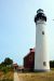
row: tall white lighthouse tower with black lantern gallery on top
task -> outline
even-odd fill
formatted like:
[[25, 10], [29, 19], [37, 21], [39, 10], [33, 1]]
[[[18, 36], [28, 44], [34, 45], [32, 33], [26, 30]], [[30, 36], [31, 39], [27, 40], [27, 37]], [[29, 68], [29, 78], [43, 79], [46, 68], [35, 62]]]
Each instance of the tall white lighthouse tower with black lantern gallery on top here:
[[35, 71], [50, 71], [46, 16], [43, 10], [39, 9], [37, 11], [37, 15], [35, 16], [35, 23], [36, 23]]

